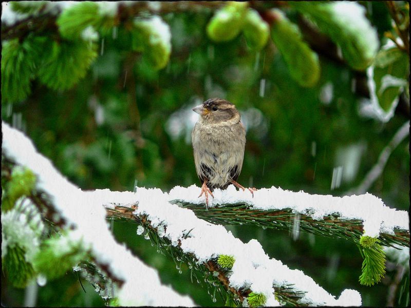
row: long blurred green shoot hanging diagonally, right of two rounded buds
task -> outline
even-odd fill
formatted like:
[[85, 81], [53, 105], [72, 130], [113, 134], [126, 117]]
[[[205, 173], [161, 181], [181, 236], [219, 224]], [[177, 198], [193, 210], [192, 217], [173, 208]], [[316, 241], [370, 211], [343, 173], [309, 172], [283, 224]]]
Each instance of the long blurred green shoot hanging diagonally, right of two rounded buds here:
[[284, 13], [274, 9], [271, 37], [284, 57], [291, 77], [303, 87], [314, 86], [320, 78], [318, 55], [303, 41], [300, 29]]

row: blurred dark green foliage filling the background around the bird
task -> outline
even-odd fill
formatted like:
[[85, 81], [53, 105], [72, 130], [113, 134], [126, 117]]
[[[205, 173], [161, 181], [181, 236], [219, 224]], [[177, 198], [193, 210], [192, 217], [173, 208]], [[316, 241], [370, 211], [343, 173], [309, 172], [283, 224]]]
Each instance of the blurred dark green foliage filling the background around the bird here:
[[[391, 29], [387, 7], [382, 2], [364, 6], [383, 45], [387, 41], [383, 33]], [[14, 40], [4, 43], [3, 51], [13, 48], [13, 53], [2, 60], [2, 92], [4, 87], [24, 85], [21, 95], [9, 96], [17, 102], [2, 99], [3, 121], [25, 128], [36, 148], [82, 189], [133, 190], [137, 184], [166, 191], [175, 185], [199, 184], [190, 140], [196, 121], [191, 108], [221, 97], [237, 106], [247, 127], [245, 160], [238, 180], [242, 185], [274, 185], [334, 196], [358, 186], [408, 119], [405, 96], [389, 122], [364, 117], [359, 112], [364, 93], [359, 89], [366, 76], [351, 68], [356, 65], [330, 59], [318, 51], [320, 77], [312, 87], [302, 87], [290, 73], [291, 60], [284, 57], [286, 48], [278, 50], [280, 46], [277, 49], [269, 41], [262, 50], [251, 50], [242, 35], [232, 35], [227, 42], [210, 40], [207, 29], [213, 27], [209, 25], [213, 14], [212, 10], [161, 14], [170, 26], [172, 46], [170, 60], [161, 70], [156, 69], [156, 63], [157, 68], [164, 66], [162, 59], [153, 54], [154, 62], [147, 58], [150, 48], [133, 49], [138, 44], [129, 30], [133, 25], [127, 22], [110, 30], [104, 24], [98, 41], [87, 44], [79, 40], [70, 45], [63, 40], [52, 45], [48, 39], [47, 46], [51, 47], [45, 50], [44, 61], [36, 64], [38, 68], [30, 68], [38, 79], [27, 71], [12, 71], [9, 64], [16, 63], [17, 69], [31, 67], [36, 62], [30, 60], [34, 51]], [[292, 14], [290, 20], [294, 22]], [[61, 16], [61, 26], [66, 25], [63, 17], [67, 15]], [[78, 35], [70, 29], [65, 31], [70, 38]], [[43, 35], [29, 35], [28, 39], [47, 37]], [[339, 42], [337, 38], [335, 41]], [[86, 66], [81, 65], [84, 59], [78, 63], [79, 59], [70, 56], [74, 48], [81, 49], [89, 59]], [[162, 56], [166, 56], [166, 49], [163, 51]], [[402, 56], [409, 59], [405, 53]], [[60, 57], [67, 60], [63, 68], [51, 63]], [[6, 69], [3, 61], [8, 61]], [[63, 90], [72, 86], [65, 83], [67, 75], [75, 85]], [[30, 82], [31, 90], [27, 86]], [[403, 106], [408, 106], [405, 112]], [[341, 163], [339, 153], [347, 157], [349, 147], [357, 144], [361, 145], [357, 161]], [[409, 208], [408, 147], [408, 140], [403, 141], [391, 153], [383, 174], [369, 189], [390, 207], [405, 210]], [[331, 190], [333, 169], [340, 165], [343, 170], [354, 171]], [[361, 286], [362, 257], [351, 242], [307, 234], [300, 234], [294, 241], [283, 231], [227, 228], [242, 241], [256, 238], [270, 257], [301, 269], [333, 295], [353, 288], [361, 293], [363, 305], [386, 304], [388, 285], [395, 273], [387, 272], [386, 278], [373, 287]], [[156, 267], [164, 284], [171, 283], [178, 292], [190, 294], [199, 305], [223, 305], [220, 299], [212, 302], [200, 284], [190, 282], [185, 265], [178, 274], [170, 258], [158, 254], [135, 232], [135, 224], [114, 224], [117, 239]], [[399, 290], [407, 283], [403, 280]], [[14, 289], [4, 276], [2, 285], [3, 304], [23, 304], [22, 290]], [[83, 285], [87, 293], [78, 278], [67, 272], [39, 288], [38, 305], [102, 305], [103, 300], [90, 285]]]

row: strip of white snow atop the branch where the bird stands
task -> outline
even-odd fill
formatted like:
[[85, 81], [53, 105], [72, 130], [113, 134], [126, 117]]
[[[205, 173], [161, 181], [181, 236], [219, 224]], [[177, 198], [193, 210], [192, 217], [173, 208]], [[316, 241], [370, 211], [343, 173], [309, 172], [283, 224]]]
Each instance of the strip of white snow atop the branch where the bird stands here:
[[[176, 186], [170, 191], [170, 200], [182, 200], [193, 204], [204, 204], [204, 197], [198, 198], [200, 188]], [[225, 203], [247, 203], [253, 208], [270, 210], [291, 208], [294, 213], [309, 215], [314, 219], [339, 214], [339, 219], [363, 220], [364, 235], [378, 237], [381, 233], [394, 234], [394, 228], [408, 230], [408, 213], [405, 210], [389, 208], [371, 194], [334, 197], [331, 195], [310, 195], [302, 190], [294, 192], [282, 188], [260, 188], [254, 197], [246, 191], [236, 190], [230, 185], [226, 190], [215, 189], [209, 206]], [[184, 198], [181, 198], [184, 196]], [[308, 213], [308, 214], [307, 214]]]

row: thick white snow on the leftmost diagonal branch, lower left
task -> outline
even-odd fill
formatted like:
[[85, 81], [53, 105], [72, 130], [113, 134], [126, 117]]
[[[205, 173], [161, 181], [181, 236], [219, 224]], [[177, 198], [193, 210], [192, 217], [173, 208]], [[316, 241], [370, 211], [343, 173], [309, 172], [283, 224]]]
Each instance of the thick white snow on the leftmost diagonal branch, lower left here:
[[108, 229], [106, 210], [102, 204], [121, 202], [133, 206], [137, 202], [133, 192], [111, 192], [108, 189], [82, 191], [40, 155], [22, 132], [4, 122], [2, 131], [2, 155], [27, 166], [38, 177], [36, 189], [49, 196], [52, 206], [66, 222], [63, 227], [74, 228], [70, 234], [90, 245], [91, 254], [98, 265], [121, 285], [117, 294], [121, 305], [195, 305], [188, 296], [181, 296], [171, 287], [162, 285], [157, 271], [116, 242]]

